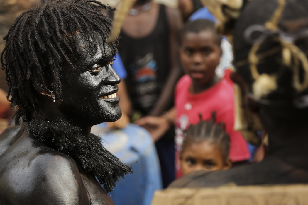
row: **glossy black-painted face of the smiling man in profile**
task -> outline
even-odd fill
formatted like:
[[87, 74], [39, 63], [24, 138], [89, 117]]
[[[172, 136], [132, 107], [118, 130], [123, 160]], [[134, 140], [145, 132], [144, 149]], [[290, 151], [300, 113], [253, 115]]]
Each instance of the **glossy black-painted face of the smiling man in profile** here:
[[76, 39], [80, 55], [71, 65], [63, 67], [61, 111], [73, 120], [83, 120], [88, 125], [118, 120], [122, 114], [116, 96], [120, 77], [112, 68], [115, 55], [111, 46], [104, 43], [99, 33], [93, 41], [97, 51], [92, 56], [89, 41], [81, 34]]

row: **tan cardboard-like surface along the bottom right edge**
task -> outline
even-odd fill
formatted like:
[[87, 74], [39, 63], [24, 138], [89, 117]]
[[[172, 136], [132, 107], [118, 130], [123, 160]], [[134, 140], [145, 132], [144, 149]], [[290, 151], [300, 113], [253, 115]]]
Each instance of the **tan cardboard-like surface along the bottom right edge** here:
[[306, 205], [308, 185], [242, 186], [156, 191], [152, 205]]

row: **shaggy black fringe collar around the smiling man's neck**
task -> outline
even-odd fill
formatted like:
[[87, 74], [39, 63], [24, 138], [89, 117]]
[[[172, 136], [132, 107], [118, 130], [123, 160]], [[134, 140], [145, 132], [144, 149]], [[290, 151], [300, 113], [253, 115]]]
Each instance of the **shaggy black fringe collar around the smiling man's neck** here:
[[106, 192], [111, 192], [115, 183], [132, 173], [132, 169], [107, 151], [100, 142], [100, 137], [91, 134], [86, 138], [77, 126], [67, 120], [51, 122], [33, 119], [29, 122], [28, 132], [47, 146], [71, 156], [76, 163], [103, 185]]

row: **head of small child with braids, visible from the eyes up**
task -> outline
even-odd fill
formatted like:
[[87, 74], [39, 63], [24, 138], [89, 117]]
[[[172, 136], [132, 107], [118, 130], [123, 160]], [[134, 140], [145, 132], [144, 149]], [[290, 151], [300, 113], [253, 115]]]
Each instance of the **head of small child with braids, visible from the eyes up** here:
[[202, 120], [190, 125], [184, 131], [184, 142], [180, 152], [182, 174], [193, 171], [216, 171], [229, 169], [232, 161], [229, 158], [229, 135], [224, 123], [216, 123], [216, 112], [210, 120]]

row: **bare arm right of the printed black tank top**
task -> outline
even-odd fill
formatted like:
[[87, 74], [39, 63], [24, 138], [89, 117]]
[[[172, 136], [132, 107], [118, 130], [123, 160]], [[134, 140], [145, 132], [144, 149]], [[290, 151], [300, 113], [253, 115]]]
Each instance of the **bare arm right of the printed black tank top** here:
[[149, 115], [160, 116], [163, 111], [167, 110], [168, 107], [172, 104], [173, 100], [173, 91], [176, 85], [176, 82], [182, 75], [182, 70], [179, 65], [179, 55], [178, 55], [178, 32], [182, 26], [181, 16], [178, 10], [171, 9], [167, 7], [167, 16], [168, 22], [170, 25], [170, 34], [169, 34], [169, 57], [171, 69], [167, 80], [165, 82], [162, 93], [158, 98], [157, 103], [154, 108], [149, 112]]

